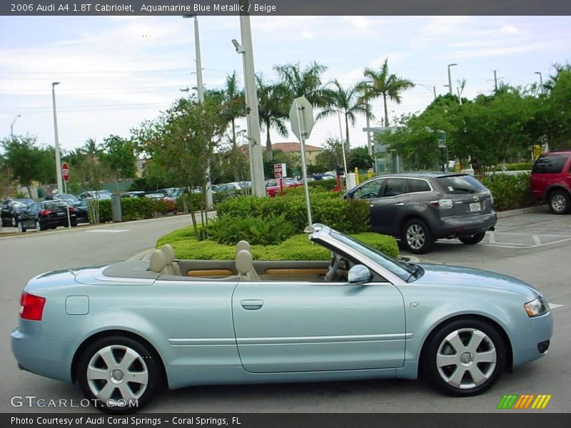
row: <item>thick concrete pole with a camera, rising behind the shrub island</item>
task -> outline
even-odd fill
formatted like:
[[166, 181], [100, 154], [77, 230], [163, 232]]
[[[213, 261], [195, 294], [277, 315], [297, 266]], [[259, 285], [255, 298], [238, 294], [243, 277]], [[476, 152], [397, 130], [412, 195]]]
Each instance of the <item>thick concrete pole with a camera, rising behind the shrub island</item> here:
[[[248, 0], [241, 0], [241, 6], [248, 10]], [[252, 30], [250, 16], [240, 15], [240, 34], [242, 44], [236, 40], [232, 43], [244, 60], [244, 86], [246, 89], [246, 119], [248, 122], [248, 141], [250, 142], [250, 158], [252, 165], [252, 190], [257, 196], [266, 196], [266, 185], [263, 176], [262, 148], [260, 146], [260, 116], [258, 112], [258, 93], [256, 91], [256, 72], [252, 46]]]

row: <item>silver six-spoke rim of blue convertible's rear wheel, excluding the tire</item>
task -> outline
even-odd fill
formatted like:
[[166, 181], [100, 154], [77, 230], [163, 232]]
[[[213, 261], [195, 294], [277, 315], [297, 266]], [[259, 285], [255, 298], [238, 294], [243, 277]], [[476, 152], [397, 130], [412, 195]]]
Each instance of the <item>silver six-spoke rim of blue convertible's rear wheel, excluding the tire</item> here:
[[138, 399], [149, 382], [143, 357], [123, 345], [98, 350], [89, 360], [86, 375], [91, 393], [103, 402]]

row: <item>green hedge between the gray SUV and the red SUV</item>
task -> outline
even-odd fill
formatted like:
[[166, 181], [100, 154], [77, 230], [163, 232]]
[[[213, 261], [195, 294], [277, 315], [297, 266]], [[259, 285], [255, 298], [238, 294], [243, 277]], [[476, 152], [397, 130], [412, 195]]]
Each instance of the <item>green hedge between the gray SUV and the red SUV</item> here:
[[492, 192], [498, 211], [530, 207], [534, 203], [527, 173], [487, 175], [482, 183]]

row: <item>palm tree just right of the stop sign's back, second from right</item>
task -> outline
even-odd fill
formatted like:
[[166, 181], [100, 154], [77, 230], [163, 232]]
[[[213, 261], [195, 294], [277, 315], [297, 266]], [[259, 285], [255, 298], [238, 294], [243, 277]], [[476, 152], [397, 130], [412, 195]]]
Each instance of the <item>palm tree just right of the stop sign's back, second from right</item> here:
[[327, 95], [330, 98], [331, 105], [325, 107], [317, 116], [326, 118], [335, 114], [342, 114], [345, 117], [345, 142], [346, 150], [349, 150], [349, 123], [355, 126], [357, 115], [364, 114], [370, 119], [374, 118], [373, 114], [368, 111], [366, 103], [359, 98], [360, 88], [358, 86], [351, 86], [350, 88], [343, 88], [337, 79], [330, 82], [335, 86], [334, 90], [328, 90]]

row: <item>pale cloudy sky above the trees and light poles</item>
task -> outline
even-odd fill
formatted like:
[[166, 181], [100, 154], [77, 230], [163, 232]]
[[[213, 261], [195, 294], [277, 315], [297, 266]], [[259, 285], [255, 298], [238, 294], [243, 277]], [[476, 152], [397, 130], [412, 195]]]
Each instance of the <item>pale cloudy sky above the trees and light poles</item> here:
[[[243, 81], [238, 16], [199, 16], [203, 81], [223, 85], [236, 71]], [[276, 64], [317, 61], [328, 67], [323, 82], [344, 86], [363, 79], [366, 67], [380, 68], [385, 58], [392, 73], [416, 86], [389, 102], [390, 121], [423, 111], [448, 88], [465, 79], [463, 96], [490, 93], [493, 70], [503, 83], [525, 86], [552, 64], [571, 61], [570, 16], [253, 16], [256, 73], [275, 81]], [[35, 136], [54, 145], [51, 83], [56, 86], [59, 143], [62, 151], [84, 146], [88, 138], [115, 134], [152, 120], [183, 88], [196, 86], [193, 21], [178, 16], [1, 16], [0, 139]], [[383, 103], [371, 104], [380, 125]], [[21, 115], [21, 116], [18, 116]], [[239, 123], [246, 128], [246, 122]], [[344, 124], [343, 124], [344, 126]], [[351, 146], [365, 146], [365, 118], [350, 128]], [[343, 135], [345, 129], [342, 129]], [[307, 143], [323, 146], [338, 138], [337, 118], [318, 121]], [[295, 136], [272, 133], [273, 142]], [[262, 131], [262, 143], [265, 144]]]

